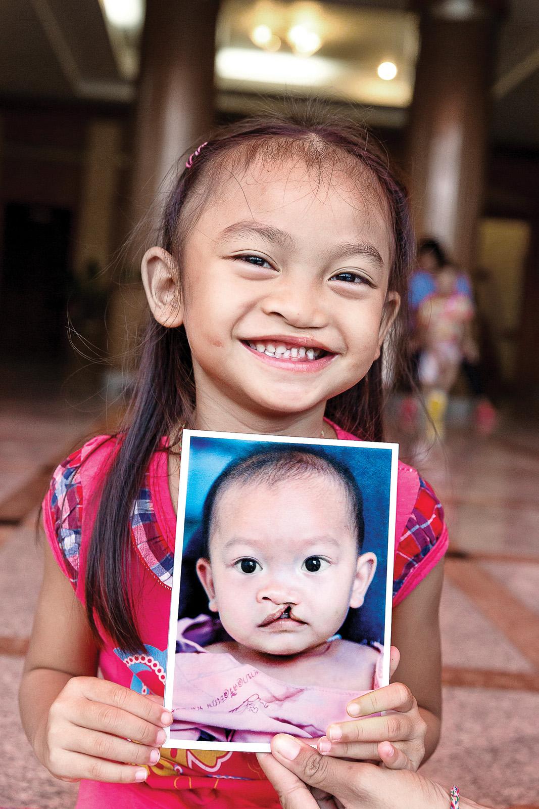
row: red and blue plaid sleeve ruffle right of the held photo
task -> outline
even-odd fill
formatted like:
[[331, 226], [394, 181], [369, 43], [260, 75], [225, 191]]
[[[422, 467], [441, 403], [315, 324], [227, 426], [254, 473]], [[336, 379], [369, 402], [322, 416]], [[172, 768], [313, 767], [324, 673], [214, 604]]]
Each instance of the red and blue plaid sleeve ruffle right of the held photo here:
[[[406, 528], [398, 542], [395, 554], [393, 595], [394, 599], [402, 587], [409, 585], [411, 578], [417, 582], [431, 570], [434, 557], [438, 561], [447, 544], [447, 528], [444, 523], [444, 509], [432, 487], [419, 477], [419, 492]], [[426, 565], [430, 555], [429, 564]], [[406, 590], [408, 587], [406, 587]]]

